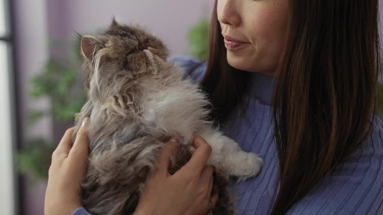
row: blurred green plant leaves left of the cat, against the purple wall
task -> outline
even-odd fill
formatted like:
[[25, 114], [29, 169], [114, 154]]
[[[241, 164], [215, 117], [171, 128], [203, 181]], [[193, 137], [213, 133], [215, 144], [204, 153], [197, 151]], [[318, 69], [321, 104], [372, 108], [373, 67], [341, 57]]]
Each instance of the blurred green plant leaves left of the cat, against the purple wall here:
[[[54, 41], [54, 42], [52, 42]], [[52, 48], [65, 50], [64, 42], [51, 40]], [[33, 126], [45, 115], [53, 116], [54, 121], [74, 121], [75, 113], [80, 112], [87, 100], [82, 87], [81, 55], [78, 41], [64, 57], [52, 57], [42, 66], [42, 71], [31, 78], [29, 96], [34, 99], [49, 98], [51, 108], [29, 110], [28, 126]], [[65, 53], [65, 52], [60, 52]], [[20, 173], [31, 173], [33, 179], [47, 179], [52, 152], [56, 145], [51, 140], [36, 138], [15, 155]]]

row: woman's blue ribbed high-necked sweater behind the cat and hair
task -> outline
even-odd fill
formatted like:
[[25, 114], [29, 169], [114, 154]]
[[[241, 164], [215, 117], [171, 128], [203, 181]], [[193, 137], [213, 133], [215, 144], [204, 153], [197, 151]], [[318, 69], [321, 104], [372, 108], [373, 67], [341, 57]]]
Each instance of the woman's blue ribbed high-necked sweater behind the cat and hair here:
[[[172, 57], [198, 83], [206, 63], [192, 57]], [[244, 151], [259, 153], [265, 165], [255, 178], [237, 185], [235, 202], [239, 214], [270, 214], [279, 191], [279, 165], [270, 99], [273, 77], [252, 73], [250, 90], [221, 126]], [[249, 102], [248, 102], [249, 101]], [[247, 105], [248, 102], [248, 105]], [[245, 112], [244, 112], [245, 110]], [[243, 114], [244, 112], [244, 114]], [[370, 137], [340, 164], [340, 172], [326, 176], [286, 213], [288, 215], [383, 214], [383, 124], [375, 117]], [[79, 208], [74, 215], [88, 215]]]

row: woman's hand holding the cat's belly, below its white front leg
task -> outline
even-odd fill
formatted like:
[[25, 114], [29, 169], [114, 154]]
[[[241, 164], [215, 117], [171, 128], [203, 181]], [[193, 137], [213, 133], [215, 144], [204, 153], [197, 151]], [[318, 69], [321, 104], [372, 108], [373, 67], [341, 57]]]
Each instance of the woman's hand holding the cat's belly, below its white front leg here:
[[211, 196], [214, 168], [205, 166], [211, 146], [196, 136], [196, 151], [189, 162], [171, 175], [168, 166], [177, 145], [171, 138], [160, 152], [157, 168], [146, 180], [134, 215], [200, 215], [215, 207], [218, 194]]

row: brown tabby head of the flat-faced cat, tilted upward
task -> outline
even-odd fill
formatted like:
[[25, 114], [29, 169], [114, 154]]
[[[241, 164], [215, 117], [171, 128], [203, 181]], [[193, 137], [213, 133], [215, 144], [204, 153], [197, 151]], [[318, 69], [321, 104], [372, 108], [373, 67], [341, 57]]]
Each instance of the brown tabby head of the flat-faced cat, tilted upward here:
[[138, 26], [118, 24], [115, 20], [99, 36], [81, 36], [81, 50], [85, 85], [108, 94], [158, 71], [155, 62], [167, 57], [166, 47], [159, 39]]

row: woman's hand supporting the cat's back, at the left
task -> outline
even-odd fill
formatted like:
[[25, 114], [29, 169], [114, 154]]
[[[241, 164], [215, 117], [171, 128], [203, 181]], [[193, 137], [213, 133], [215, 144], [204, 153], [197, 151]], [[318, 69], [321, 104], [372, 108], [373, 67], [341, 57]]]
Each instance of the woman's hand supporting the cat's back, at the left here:
[[86, 117], [72, 145], [74, 128], [68, 129], [52, 154], [45, 193], [45, 215], [70, 215], [81, 207], [80, 183], [85, 176], [88, 149]]

